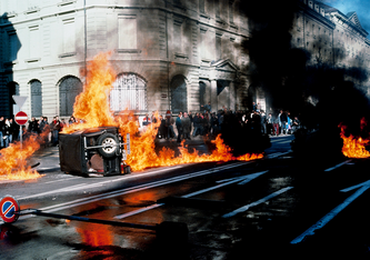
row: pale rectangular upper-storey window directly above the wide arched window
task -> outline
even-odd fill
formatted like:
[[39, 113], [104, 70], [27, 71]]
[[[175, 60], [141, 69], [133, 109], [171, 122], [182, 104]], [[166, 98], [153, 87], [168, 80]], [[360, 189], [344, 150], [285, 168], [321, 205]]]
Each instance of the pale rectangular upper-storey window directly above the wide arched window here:
[[138, 49], [137, 17], [118, 16], [118, 49]]

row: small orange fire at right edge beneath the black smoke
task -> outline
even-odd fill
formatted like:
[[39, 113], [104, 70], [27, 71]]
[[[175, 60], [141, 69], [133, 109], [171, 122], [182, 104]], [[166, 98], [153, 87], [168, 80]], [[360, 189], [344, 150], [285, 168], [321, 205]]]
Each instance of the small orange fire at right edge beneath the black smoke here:
[[[366, 124], [366, 120], [361, 120], [361, 130]], [[368, 158], [370, 152], [366, 150], [366, 146], [370, 140], [360, 138], [354, 138], [352, 134], [346, 137], [344, 132], [347, 127], [342, 123], [339, 124], [341, 132], [340, 137], [343, 139], [342, 153], [349, 158]]]

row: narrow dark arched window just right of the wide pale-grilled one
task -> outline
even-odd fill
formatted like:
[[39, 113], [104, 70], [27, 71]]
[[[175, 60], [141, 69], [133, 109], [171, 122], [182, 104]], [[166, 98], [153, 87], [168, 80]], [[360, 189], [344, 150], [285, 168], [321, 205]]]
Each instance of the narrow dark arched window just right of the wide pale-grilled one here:
[[188, 111], [188, 91], [184, 77], [174, 76], [171, 80], [171, 110], [172, 113]]

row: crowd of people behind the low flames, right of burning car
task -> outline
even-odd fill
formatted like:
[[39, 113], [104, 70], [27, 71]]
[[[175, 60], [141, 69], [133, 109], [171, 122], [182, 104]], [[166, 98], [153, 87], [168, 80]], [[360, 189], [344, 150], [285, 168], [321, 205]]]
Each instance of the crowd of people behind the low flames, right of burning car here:
[[[159, 116], [156, 118], [154, 112], [151, 117], [147, 113], [143, 118], [142, 126], [146, 128], [152, 122], [160, 120], [157, 138], [159, 139], [177, 139], [181, 142], [183, 139], [190, 140], [197, 136], [216, 137], [222, 132], [222, 128], [229, 128], [230, 126], [241, 127], [246, 132], [260, 132], [262, 134], [280, 136], [292, 134], [300, 128], [301, 123], [298, 117], [293, 119], [289, 111], [279, 110], [276, 114], [267, 114], [263, 110], [260, 110], [258, 106], [250, 112], [243, 112], [241, 110], [232, 111], [227, 108], [222, 108], [218, 112], [210, 112], [210, 104], [202, 106], [203, 112], [179, 112], [173, 119], [171, 111], [167, 111], [166, 116]], [[174, 127], [177, 130], [174, 131]]]

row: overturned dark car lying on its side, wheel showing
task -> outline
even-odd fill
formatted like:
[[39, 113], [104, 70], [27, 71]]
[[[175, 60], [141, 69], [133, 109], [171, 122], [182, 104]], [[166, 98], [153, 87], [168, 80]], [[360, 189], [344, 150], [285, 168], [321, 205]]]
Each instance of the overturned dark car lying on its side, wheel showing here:
[[59, 134], [60, 169], [66, 173], [129, 173], [130, 167], [124, 162], [127, 154], [130, 154], [130, 134], [127, 134], [124, 143], [116, 127], [82, 129]]

